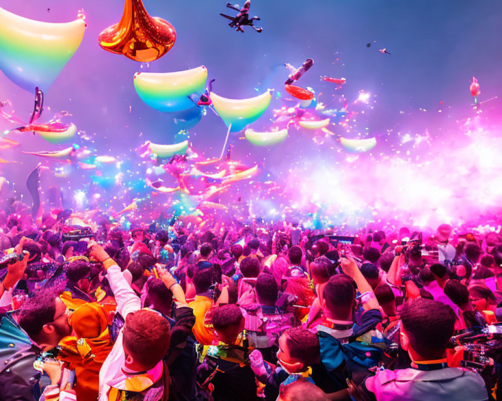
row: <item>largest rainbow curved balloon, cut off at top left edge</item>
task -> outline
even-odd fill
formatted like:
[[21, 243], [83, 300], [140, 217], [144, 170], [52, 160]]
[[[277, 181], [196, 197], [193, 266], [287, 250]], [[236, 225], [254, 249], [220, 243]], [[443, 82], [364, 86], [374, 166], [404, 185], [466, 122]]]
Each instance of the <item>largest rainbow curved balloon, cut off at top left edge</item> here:
[[85, 22], [54, 24], [0, 8], [0, 70], [19, 87], [46, 91], [76, 52]]

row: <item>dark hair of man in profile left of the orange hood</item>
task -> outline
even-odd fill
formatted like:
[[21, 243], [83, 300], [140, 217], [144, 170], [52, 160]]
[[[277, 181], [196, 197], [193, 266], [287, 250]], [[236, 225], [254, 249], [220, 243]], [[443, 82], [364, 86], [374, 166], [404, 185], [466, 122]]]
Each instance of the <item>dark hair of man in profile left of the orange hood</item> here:
[[31, 339], [37, 341], [44, 325], [54, 320], [57, 295], [54, 289], [42, 289], [21, 307], [19, 325]]

